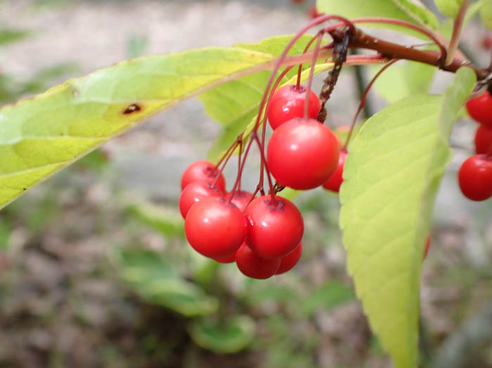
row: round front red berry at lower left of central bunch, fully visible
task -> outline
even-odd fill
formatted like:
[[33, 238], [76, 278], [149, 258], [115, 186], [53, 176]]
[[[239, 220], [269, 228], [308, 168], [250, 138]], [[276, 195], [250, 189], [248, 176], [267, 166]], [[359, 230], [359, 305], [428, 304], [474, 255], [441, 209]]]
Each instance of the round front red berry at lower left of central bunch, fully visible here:
[[247, 234], [245, 216], [224, 198], [204, 198], [191, 207], [185, 220], [186, 239], [203, 256], [233, 254]]

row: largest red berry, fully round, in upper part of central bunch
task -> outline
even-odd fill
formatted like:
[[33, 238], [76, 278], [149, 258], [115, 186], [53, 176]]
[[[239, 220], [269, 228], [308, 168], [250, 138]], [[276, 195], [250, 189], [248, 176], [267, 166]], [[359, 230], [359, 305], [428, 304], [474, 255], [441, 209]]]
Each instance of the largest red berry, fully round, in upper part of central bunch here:
[[266, 155], [280, 185], [312, 189], [337, 168], [339, 145], [328, 126], [313, 119], [293, 119], [273, 131]]

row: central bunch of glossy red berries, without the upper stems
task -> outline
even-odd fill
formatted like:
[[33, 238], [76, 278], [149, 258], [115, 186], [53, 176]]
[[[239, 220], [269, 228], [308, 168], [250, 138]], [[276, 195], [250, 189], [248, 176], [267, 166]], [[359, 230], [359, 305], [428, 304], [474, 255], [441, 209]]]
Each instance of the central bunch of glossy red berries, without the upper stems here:
[[[244, 275], [257, 279], [291, 270], [302, 255], [302, 215], [277, 192], [284, 187], [306, 190], [321, 185], [338, 192], [347, 156], [345, 150], [340, 150], [335, 134], [316, 120], [321, 103], [308, 88], [278, 88], [267, 106], [273, 133], [266, 157], [261, 155], [263, 167], [257, 190], [251, 193], [240, 189], [245, 159], [241, 161], [240, 136], [218, 165], [197, 161], [186, 168], [179, 199], [191, 247], [217, 262], [235, 262]], [[261, 143], [259, 147], [261, 150]], [[236, 148], [238, 178], [231, 192], [226, 192], [221, 171]], [[261, 183], [264, 170], [271, 187], [267, 195]], [[270, 175], [276, 185], [272, 185]]]

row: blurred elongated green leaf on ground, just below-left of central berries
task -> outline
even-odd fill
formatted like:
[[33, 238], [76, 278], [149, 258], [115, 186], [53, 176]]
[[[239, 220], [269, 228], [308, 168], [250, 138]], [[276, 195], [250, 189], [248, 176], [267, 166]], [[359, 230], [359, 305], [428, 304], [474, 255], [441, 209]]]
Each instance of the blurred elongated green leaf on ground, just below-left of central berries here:
[[147, 249], [115, 249], [112, 260], [119, 275], [148, 303], [162, 305], [186, 316], [209, 315], [216, 298], [179, 276], [174, 266]]

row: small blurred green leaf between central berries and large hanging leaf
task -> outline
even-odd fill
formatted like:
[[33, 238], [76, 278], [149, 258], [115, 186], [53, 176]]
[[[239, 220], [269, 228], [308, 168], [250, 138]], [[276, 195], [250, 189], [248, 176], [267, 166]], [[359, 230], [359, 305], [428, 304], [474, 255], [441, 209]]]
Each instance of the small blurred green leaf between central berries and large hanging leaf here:
[[355, 298], [354, 291], [351, 287], [342, 282], [330, 281], [302, 301], [301, 310], [303, 315], [312, 315], [318, 309], [332, 310], [344, 303], [353, 301]]

